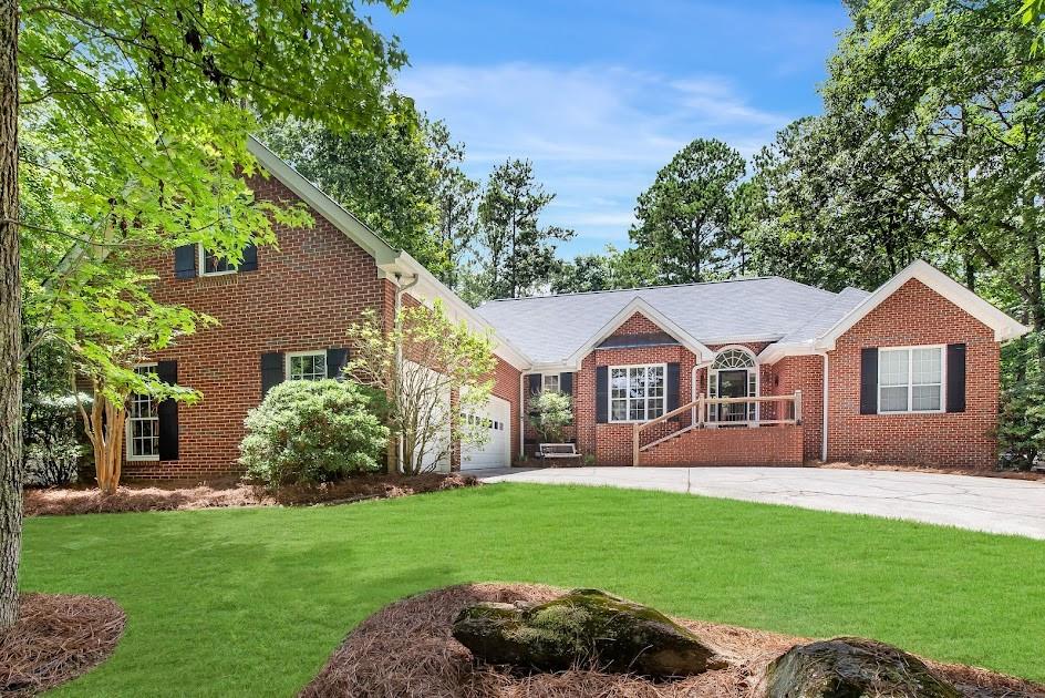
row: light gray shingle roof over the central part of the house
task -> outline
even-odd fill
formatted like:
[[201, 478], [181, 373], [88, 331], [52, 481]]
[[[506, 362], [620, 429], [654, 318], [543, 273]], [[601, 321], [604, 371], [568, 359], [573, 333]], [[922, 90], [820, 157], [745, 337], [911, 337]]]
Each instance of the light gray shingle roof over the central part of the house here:
[[813, 339], [867, 295], [855, 288], [832, 294], [770, 276], [495, 300], [477, 311], [532, 361], [555, 362], [569, 358], [637, 297], [711, 345]]

